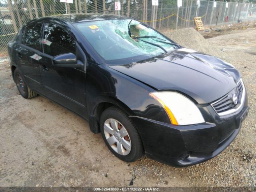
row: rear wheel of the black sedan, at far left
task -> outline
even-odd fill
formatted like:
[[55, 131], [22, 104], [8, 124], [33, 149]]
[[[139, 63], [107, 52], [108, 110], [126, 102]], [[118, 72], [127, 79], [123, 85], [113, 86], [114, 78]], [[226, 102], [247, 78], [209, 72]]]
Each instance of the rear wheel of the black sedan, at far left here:
[[14, 70], [14, 82], [21, 96], [25, 99], [31, 99], [37, 96], [37, 93], [32, 91], [28, 87], [28, 85], [24, 81], [24, 76], [20, 73], [20, 71], [17, 68]]

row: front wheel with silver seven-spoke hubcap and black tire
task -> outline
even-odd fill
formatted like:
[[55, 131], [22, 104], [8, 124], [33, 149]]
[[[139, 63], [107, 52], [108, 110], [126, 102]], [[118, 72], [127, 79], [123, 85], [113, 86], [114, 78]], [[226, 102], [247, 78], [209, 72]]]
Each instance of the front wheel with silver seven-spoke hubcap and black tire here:
[[100, 117], [100, 131], [110, 151], [121, 160], [134, 162], [143, 155], [140, 135], [122, 110], [107, 108]]

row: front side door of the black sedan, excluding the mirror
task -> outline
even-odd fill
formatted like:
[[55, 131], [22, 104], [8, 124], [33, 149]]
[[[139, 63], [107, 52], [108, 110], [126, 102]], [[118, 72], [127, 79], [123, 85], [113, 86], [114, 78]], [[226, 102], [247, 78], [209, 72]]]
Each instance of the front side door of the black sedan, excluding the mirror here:
[[77, 60], [86, 64], [86, 57], [75, 38], [63, 26], [45, 23], [42, 47], [39, 63], [46, 96], [87, 118], [85, 68], [56, 67], [52, 62], [54, 56], [73, 53]]

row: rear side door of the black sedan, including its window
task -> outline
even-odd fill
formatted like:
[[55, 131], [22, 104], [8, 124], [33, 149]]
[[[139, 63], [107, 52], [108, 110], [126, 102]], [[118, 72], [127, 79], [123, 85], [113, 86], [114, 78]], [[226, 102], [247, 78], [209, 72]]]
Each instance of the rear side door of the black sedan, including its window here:
[[39, 68], [41, 32], [42, 23], [40, 22], [22, 29], [21, 44], [18, 44], [16, 48], [16, 59], [19, 70], [24, 75], [30, 89], [44, 94]]

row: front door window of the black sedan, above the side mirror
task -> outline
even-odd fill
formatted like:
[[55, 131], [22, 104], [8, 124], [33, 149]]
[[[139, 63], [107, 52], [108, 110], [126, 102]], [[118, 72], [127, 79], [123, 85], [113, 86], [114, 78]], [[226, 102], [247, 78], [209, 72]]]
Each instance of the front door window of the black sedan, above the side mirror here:
[[56, 24], [46, 23], [43, 39], [44, 53], [56, 56], [64, 53], [76, 53], [74, 38]]

